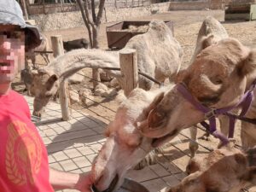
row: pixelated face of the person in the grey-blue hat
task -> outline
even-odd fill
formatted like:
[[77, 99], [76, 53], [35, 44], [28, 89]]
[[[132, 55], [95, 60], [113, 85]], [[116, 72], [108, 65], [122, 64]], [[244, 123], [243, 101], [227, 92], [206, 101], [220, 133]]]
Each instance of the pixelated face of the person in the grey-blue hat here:
[[25, 65], [25, 35], [19, 26], [0, 24], [0, 84], [9, 84]]

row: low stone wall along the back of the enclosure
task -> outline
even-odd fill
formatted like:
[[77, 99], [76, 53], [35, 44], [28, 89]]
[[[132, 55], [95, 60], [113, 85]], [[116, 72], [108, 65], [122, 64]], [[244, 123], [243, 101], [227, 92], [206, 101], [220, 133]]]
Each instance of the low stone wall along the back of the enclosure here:
[[[170, 10], [222, 9], [222, 2], [222, 0], [205, 0], [196, 2], [154, 3], [136, 8], [106, 8], [107, 18], [105, 14], [103, 14], [102, 23], [131, 20], [132, 18], [151, 15], [153, 12], [165, 13]], [[36, 20], [36, 23], [43, 32], [84, 26], [80, 11], [48, 15], [31, 15], [30, 19]]]

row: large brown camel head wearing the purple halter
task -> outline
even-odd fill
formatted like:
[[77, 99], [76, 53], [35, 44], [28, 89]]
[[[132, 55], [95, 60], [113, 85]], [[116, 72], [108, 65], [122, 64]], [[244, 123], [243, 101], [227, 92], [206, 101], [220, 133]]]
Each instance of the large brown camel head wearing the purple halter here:
[[[208, 108], [225, 108], [240, 100], [247, 84], [256, 78], [255, 68], [256, 50], [248, 49], [234, 38], [225, 38], [203, 49], [178, 79], [197, 102]], [[204, 113], [175, 86], [150, 111], [140, 129], [146, 137], [164, 137], [204, 119]]]

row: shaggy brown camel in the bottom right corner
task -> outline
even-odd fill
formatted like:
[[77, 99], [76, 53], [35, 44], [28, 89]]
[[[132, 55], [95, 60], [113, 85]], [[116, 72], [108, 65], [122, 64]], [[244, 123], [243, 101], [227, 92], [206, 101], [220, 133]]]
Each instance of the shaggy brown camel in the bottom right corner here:
[[189, 176], [166, 192], [240, 192], [256, 185], [256, 148], [221, 148], [189, 161]]

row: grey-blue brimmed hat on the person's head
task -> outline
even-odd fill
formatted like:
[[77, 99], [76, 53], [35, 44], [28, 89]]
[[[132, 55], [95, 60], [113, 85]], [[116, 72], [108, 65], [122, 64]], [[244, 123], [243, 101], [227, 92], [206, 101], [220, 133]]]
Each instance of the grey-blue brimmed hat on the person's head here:
[[15, 0], [0, 0], [0, 24], [16, 25], [24, 29], [26, 49], [33, 49], [41, 44], [42, 38], [38, 27], [26, 24], [20, 4]]

